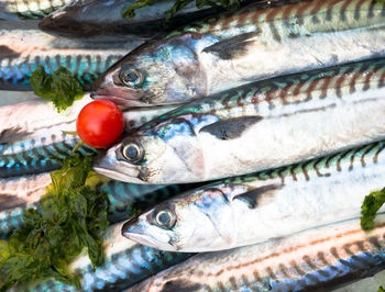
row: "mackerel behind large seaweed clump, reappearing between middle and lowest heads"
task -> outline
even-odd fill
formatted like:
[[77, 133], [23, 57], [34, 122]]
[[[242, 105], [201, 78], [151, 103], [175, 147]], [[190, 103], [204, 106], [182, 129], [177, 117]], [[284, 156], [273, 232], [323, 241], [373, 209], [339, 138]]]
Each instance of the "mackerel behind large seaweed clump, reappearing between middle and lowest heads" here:
[[[40, 198], [51, 182], [50, 172], [0, 179], [0, 238], [7, 238], [13, 229], [24, 224], [24, 211], [38, 207]], [[148, 207], [194, 188], [191, 184], [132, 184], [96, 177], [94, 183], [109, 198], [110, 223], [124, 220], [133, 209]]]

